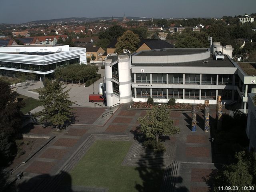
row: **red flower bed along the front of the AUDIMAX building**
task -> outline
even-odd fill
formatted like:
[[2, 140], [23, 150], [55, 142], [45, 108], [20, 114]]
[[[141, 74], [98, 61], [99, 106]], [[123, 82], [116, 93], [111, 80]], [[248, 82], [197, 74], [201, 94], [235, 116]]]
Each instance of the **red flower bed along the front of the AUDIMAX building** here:
[[[155, 104], [157, 105], [157, 104]], [[152, 108], [154, 105], [147, 104], [146, 102], [134, 102], [132, 104], [132, 108]], [[174, 105], [169, 105], [170, 109], [191, 109], [192, 110], [192, 104], [190, 103], [176, 103]], [[196, 104], [197, 110], [204, 109], [204, 104]]]

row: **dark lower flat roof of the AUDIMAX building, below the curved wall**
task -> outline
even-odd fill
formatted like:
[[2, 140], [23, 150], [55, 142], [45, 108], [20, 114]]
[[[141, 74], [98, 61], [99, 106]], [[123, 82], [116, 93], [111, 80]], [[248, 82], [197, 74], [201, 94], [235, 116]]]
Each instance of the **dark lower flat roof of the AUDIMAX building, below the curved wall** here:
[[[208, 61], [204, 63], [204, 61]], [[214, 60], [213, 56], [206, 60], [183, 62], [183, 63], [132, 63], [132, 66], [177, 66], [177, 67], [235, 67], [234, 64], [225, 56], [225, 60]]]

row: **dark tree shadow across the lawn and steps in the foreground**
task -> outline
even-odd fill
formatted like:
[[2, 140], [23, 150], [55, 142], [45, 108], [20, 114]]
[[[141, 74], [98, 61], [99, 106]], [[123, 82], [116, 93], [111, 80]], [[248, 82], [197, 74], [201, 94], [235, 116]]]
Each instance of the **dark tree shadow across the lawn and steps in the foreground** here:
[[[186, 187], [179, 187], [182, 177], [175, 174], [178, 167], [165, 165], [164, 153], [146, 149], [140, 154], [138, 167], [135, 168], [142, 179], [142, 183], [136, 182], [138, 192], [188, 192]], [[174, 174], [173, 174], [174, 173]]]

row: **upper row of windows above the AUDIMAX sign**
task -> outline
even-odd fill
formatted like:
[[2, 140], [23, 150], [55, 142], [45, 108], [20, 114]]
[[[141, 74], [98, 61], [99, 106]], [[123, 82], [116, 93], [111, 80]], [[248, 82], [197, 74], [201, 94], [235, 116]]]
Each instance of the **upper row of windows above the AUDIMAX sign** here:
[[[221, 74], [218, 77], [218, 84], [232, 85], [232, 78], [232, 75]], [[150, 74], [136, 74], [136, 83], [150, 83]], [[152, 83], [166, 84], [166, 74], [152, 74]], [[216, 83], [216, 74], [202, 74], [202, 84]], [[168, 84], [183, 84], [183, 74], [168, 74]], [[200, 84], [200, 74], [185, 74], [185, 84]]]

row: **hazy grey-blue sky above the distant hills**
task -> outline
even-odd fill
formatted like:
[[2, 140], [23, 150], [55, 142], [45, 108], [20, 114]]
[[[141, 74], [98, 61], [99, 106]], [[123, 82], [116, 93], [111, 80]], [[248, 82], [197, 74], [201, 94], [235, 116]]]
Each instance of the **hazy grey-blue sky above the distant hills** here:
[[221, 17], [256, 12], [256, 0], [0, 0], [0, 23], [68, 17]]

